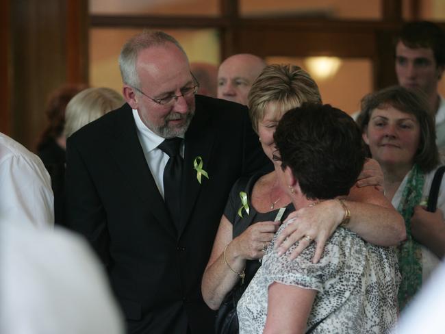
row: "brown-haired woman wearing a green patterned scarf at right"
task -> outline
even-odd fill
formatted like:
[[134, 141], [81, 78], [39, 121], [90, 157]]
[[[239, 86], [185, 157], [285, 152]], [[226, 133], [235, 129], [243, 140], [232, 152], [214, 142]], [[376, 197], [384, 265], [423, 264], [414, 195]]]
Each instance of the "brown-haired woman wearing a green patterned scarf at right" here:
[[435, 125], [428, 108], [420, 91], [393, 86], [364, 97], [357, 119], [385, 175], [385, 195], [405, 218], [407, 240], [398, 247], [401, 308], [445, 253], [445, 179], [440, 184], [438, 209], [429, 212], [422, 206], [439, 166]]

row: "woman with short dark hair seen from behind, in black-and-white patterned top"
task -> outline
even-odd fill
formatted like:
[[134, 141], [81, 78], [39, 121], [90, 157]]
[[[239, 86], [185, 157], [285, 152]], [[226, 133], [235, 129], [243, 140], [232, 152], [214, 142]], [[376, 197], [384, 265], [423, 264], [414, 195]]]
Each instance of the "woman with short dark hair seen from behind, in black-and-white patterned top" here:
[[[359, 128], [330, 105], [303, 104], [283, 115], [274, 134], [279, 185], [296, 210], [337, 198], [343, 203], [365, 161]], [[240, 333], [388, 333], [397, 318], [398, 272], [393, 248], [374, 246], [339, 227], [320, 261], [316, 245], [296, 259], [275, 242], [238, 303]]]

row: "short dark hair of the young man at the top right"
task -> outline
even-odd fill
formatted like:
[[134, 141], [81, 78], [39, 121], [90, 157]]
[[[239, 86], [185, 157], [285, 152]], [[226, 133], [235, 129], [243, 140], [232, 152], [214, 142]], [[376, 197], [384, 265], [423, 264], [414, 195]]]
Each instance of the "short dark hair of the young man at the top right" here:
[[410, 49], [432, 49], [437, 66], [445, 65], [445, 32], [429, 21], [409, 22], [403, 25], [397, 42], [403, 42]]

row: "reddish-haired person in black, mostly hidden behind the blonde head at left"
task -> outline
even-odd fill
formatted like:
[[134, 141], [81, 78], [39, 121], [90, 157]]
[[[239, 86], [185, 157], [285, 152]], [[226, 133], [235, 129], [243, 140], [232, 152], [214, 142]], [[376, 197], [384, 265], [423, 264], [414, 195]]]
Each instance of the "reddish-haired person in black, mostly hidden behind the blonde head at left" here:
[[54, 222], [64, 225], [63, 188], [65, 177], [65, 146], [64, 136], [65, 109], [75, 94], [87, 88], [86, 85], [66, 85], [54, 90], [48, 99], [45, 114], [48, 126], [44, 129], [37, 144], [37, 155], [51, 176], [51, 188], [54, 193]]

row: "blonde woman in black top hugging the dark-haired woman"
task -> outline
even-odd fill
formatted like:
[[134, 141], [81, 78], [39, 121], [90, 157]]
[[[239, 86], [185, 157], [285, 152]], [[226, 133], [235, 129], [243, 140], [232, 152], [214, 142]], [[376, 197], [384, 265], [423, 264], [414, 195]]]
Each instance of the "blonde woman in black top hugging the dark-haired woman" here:
[[[315, 81], [298, 66], [266, 66], [253, 84], [249, 92], [249, 113], [253, 129], [270, 160], [279, 120], [288, 110], [305, 102], [321, 104], [321, 97]], [[335, 138], [332, 141], [335, 144]], [[201, 285], [205, 303], [211, 309], [219, 309], [217, 333], [238, 332], [233, 307], [261, 265], [258, 260], [279, 224], [288, 215], [296, 218], [298, 224], [288, 224], [281, 233], [277, 242], [281, 244], [279, 251], [284, 253], [299, 240], [298, 247], [292, 248], [292, 257], [296, 257], [314, 242], [314, 262], [320, 259], [325, 242], [339, 224], [347, 225], [366, 241], [380, 246], [395, 246], [404, 240], [403, 219], [383, 192], [376, 189], [374, 185], [379, 182], [370, 177], [376, 172], [369, 172], [368, 168], [364, 167], [362, 175], [357, 175], [351, 193], [342, 204], [331, 199], [298, 211], [294, 211], [292, 198], [279, 186], [276, 171], [258, 172], [233, 185]]]

